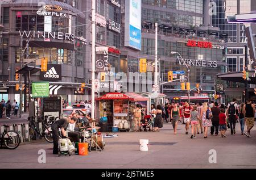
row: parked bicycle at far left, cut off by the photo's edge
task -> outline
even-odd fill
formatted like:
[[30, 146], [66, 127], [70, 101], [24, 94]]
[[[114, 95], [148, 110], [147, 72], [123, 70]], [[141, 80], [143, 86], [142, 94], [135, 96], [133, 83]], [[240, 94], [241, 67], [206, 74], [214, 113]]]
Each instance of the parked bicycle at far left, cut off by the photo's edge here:
[[8, 149], [18, 148], [20, 143], [19, 134], [16, 131], [7, 131], [7, 127], [9, 127], [9, 125], [3, 125], [3, 126], [5, 129], [2, 135], [0, 135], [1, 147], [4, 144]]

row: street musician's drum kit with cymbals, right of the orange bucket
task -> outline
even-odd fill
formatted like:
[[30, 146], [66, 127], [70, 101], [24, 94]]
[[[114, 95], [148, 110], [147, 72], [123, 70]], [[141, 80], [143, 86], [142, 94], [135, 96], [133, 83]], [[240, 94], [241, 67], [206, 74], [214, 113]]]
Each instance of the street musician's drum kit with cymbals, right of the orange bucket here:
[[101, 151], [104, 149], [104, 145], [105, 145], [103, 136], [98, 132], [98, 129], [100, 129], [100, 127], [96, 127], [95, 120], [97, 119], [93, 119], [92, 127], [85, 127], [86, 129], [80, 132], [84, 137], [84, 142], [86, 142], [89, 137], [91, 138], [89, 143], [89, 152], [90, 150]]

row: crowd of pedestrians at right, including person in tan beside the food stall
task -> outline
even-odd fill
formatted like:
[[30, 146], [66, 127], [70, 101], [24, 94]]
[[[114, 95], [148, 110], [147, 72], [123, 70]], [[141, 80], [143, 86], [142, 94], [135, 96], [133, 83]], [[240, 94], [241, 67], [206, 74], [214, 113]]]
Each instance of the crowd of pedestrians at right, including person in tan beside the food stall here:
[[[140, 128], [140, 120], [143, 113], [140, 104], [134, 110], [136, 131]], [[167, 103], [163, 106], [151, 104], [152, 118], [154, 119], [153, 131], [160, 131], [163, 127], [164, 120], [171, 122], [174, 129], [174, 135], [177, 134], [177, 123], [185, 124], [185, 134], [189, 134], [191, 126], [191, 139], [196, 138], [196, 134], [203, 134], [208, 138], [208, 129], [210, 135], [226, 137], [226, 130], [230, 129], [230, 134], [236, 134], [236, 124], [240, 123], [241, 135], [251, 137], [250, 131], [254, 127], [255, 104], [248, 100], [246, 103], [237, 103], [233, 99], [227, 106], [217, 102], [198, 102], [197, 104], [184, 103]], [[247, 131], [245, 131], [245, 125]]]

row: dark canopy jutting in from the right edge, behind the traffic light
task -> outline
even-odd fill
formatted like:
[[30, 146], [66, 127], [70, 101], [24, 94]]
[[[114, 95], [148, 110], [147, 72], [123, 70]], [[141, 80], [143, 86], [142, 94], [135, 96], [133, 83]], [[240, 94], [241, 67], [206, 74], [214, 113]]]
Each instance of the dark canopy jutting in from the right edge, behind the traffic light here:
[[[220, 74], [217, 74], [217, 77], [225, 81], [242, 82], [242, 83], [245, 82], [245, 80], [242, 78], [242, 72], [220, 73]], [[248, 81], [248, 83], [256, 84], [254, 70], [249, 71], [249, 78], [250, 80]]]

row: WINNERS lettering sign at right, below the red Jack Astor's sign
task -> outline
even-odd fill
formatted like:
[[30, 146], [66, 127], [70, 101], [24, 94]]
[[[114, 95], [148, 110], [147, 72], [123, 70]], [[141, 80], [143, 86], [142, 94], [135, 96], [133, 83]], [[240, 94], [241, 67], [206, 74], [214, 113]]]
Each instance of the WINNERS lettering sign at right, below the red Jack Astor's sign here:
[[191, 66], [201, 66], [208, 68], [217, 68], [217, 61], [207, 61], [207, 60], [189, 60], [189, 59], [178, 59], [179, 65], [191, 65]]

